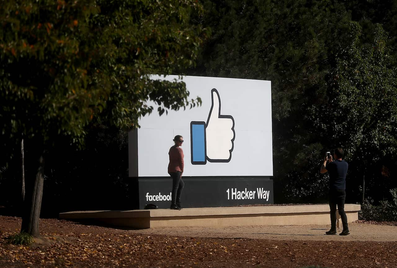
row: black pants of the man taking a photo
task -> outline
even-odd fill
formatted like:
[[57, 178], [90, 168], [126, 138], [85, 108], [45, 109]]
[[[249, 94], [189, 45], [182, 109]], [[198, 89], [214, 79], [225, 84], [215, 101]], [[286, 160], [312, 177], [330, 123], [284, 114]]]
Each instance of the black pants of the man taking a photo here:
[[341, 216], [343, 230], [349, 229], [347, 226], [347, 217], [345, 213], [345, 190], [330, 190], [330, 217], [331, 217], [331, 230], [336, 230], [336, 206], [338, 206], [338, 212]]

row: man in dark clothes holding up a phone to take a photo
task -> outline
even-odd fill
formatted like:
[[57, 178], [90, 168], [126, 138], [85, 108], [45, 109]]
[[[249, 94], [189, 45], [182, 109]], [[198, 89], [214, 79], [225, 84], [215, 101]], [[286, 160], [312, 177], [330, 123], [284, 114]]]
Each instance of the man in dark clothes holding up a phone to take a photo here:
[[347, 226], [347, 217], [345, 213], [345, 198], [346, 198], [346, 173], [348, 163], [343, 161], [343, 150], [336, 148], [332, 155], [324, 158], [324, 162], [321, 166], [321, 173], [328, 172], [330, 174], [330, 191], [329, 191], [329, 203], [330, 203], [330, 217], [331, 217], [331, 230], [326, 232], [328, 235], [337, 234], [336, 232], [336, 206], [338, 206], [338, 212], [341, 216], [343, 230], [339, 234], [340, 236], [347, 236], [350, 234]]

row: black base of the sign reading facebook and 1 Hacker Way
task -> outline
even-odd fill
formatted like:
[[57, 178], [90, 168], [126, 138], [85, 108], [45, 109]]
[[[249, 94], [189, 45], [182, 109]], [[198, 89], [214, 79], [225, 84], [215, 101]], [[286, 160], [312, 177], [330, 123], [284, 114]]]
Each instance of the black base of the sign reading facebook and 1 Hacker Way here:
[[[268, 177], [182, 177], [182, 207], [231, 207], [272, 204], [273, 180]], [[170, 208], [171, 177], [139, 177], [139, 209], [146, 204]]]

